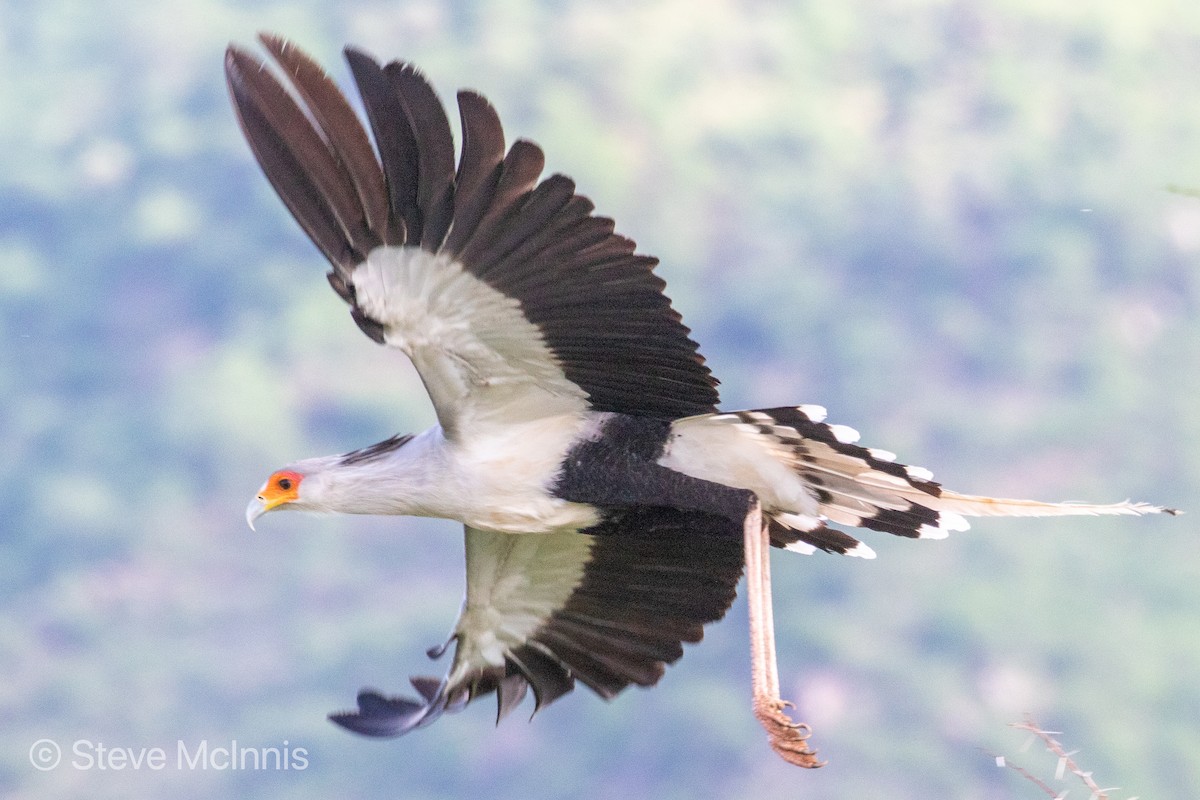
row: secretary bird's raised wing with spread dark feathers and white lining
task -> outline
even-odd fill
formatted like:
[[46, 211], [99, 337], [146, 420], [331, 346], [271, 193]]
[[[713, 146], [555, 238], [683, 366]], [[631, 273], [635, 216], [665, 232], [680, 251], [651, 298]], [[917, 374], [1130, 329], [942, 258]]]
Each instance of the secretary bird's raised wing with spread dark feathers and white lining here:
[[593, 216], [569, 178], [539, 182], [538, 145], [518, 140], [505, 155], [484, 97], [458, 94], [456, 168], [424, 76], [347, 49], [377, 158], [329, 76], [283, 40], [262, 41], [290, 86], [229, 48], [242, 131], [332, 264], [355, 321], [413, 357], [451, 435], [472, 415], [715, 408], [716, 381], [662, 294], [656, 259]]

